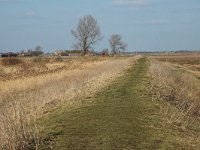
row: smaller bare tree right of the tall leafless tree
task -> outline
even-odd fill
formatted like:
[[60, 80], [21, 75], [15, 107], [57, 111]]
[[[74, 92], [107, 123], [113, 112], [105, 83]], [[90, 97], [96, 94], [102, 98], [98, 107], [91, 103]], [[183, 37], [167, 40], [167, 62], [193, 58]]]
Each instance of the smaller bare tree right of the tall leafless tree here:
[[122, 37], [119, 34], [113, 34], [109, 39], [112, 54], [121, 53], [127, 49], [127, 44], [122, 41]]

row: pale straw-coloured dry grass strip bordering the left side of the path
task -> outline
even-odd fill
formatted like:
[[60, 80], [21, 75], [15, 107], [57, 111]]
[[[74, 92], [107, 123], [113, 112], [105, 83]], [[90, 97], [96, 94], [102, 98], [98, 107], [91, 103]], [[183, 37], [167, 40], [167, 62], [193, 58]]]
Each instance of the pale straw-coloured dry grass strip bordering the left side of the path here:
[[[53, 68], [48, 73], [0, 81], [1, 148], [21, 149], [30, 143], [37, 148], [38, 117], [63, 103], [81, 104], [78, 100], [73, 101], [74, 98], [91, 96], [121, 75], [136, 59], [64, 60], [47, 63], [48, 68]], [[65, 69], [58, 69], [62, 65]]]

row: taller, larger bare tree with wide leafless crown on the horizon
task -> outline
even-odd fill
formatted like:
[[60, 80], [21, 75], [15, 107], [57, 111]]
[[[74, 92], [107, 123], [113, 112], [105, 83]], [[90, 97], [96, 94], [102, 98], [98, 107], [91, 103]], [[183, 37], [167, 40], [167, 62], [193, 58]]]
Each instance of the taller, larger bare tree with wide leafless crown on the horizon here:
[[76, 30], [71, 30], [72, 35], [77, 40], [73, 46], [77, 50], [83, 50], [87, 54], [92, 46], [102, 39], [100, 27], [97, 20], [91, 15], [79, 19]]

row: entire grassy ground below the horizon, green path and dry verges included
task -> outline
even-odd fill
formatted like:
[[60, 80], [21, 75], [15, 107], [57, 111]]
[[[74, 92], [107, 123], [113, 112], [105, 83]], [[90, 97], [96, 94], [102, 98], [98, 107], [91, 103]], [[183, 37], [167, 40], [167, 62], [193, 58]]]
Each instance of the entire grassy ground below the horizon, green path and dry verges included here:
[[1, 58], [0, 148], [199, 149], [199, 58]]

